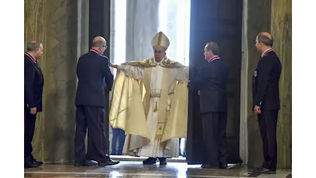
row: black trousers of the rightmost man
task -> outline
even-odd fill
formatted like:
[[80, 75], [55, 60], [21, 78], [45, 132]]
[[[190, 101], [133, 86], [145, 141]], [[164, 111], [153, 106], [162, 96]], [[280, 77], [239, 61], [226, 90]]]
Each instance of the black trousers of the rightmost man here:
[[276, 170], [278, 161], [278, 146], [276, 129], [278, 123], [278, 110], [262, 111], [258, 114], [260, 135], [263, 143], [264, 163], [262, 167]]

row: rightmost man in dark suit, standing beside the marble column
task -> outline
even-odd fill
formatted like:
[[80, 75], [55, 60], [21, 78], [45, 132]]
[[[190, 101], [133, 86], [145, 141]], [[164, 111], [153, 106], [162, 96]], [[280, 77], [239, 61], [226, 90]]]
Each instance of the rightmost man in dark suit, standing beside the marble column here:
[[264, 163], [260, 173], [275, 173], [277, 166], [276, 127], [280, 110], [279, 80], [282, 64], [272, 49], [273, 38], [267, 32], [256, 37], [261, 58], [253, 75], [253, 110], [258, 116], [263, 142]]

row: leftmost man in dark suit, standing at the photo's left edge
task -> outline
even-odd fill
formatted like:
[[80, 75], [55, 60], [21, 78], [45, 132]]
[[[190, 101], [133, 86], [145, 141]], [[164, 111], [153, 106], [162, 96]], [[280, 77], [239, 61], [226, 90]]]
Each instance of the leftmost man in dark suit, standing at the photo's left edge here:
[[37, 112], [42, 112], [42, 95], [44, 77], [38, 58], [43, 55], [43, 44], [33, 40], [27, 44], [27, 52], [22, 55], [23, 66], [23, 163], [25, 168], [38, 167], [43, 162], [37, 162], [32, 155], [32, 140], [34, 136]]

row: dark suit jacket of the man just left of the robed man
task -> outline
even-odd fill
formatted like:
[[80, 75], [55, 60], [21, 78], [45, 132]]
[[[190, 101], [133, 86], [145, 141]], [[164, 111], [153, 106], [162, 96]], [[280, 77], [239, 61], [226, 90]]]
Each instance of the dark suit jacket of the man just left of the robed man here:
[[77, 76], [75, 104], [104, 107], [104, 89], [111, 91], [113, 85], [109, 59], [93, 51], [82, 55], [77, 64]]

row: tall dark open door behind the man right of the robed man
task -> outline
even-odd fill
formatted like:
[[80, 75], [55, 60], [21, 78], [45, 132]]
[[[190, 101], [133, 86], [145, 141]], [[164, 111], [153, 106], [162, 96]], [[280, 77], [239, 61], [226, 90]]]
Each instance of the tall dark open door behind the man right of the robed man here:
[[[240, 163], [240, 70], [242, 0], [191, 1], [190, 22], [190, 78], [205, 64], [203, 49], [206, 42], [218, 42], [221, 59], [229, 67], [227, 144], [228, 163]], [[188, 140], [186, 154], [188, 164], [201, 164], [205, 155], [202, 144], [202, 122], [199, 113], [199, 95], [189, 92]]]

